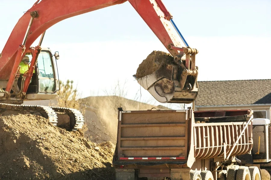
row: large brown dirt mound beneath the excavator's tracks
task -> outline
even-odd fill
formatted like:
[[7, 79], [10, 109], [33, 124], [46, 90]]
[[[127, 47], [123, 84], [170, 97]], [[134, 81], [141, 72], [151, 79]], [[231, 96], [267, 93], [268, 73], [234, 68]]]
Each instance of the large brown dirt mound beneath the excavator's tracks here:
[[113, 180], [114, 145], [95, 144], [37, 115], [0, 117], [0, 179]]

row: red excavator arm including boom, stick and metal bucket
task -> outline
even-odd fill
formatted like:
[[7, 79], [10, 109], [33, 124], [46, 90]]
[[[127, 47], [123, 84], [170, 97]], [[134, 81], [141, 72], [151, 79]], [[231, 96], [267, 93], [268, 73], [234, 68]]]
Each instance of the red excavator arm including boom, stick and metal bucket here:
[[[19, 19], [0, 54], [0, 80], [8, 80], [5, 98], [9, 98], [8, 95], [14, 83], [20, 61], [26, 53], [25, 49], [29, 49], [46, 29], [64, 19], [121, 4], [125, 1], [127, 0], [42, 0], [40, 2], [38, 0]], [[161, 0], [128, 1], [174, 57], [175, 63], [171, 64], [166, 71], [160, 69], [149, 76], [138, 78], [139, 84], [160, 102], [190, 103], [194, 101], [198, 94], [196, 83], [198, 71], [195, 67], [197, 50], [188, 46]], [[176, 29], [186, 47], [181, 46], [170, 23]], [[36, 49], [39, 48], [39, 46], [36, 47]], [[169, 93], [165, 92], [163, 88], [155, 88], [167, 85], [163, 84], [165, 81], [161, 82], [161, 79], [164, 78], [169, 79], [173, 87]], [[25, 83], [29, 83], [29, 81]]]

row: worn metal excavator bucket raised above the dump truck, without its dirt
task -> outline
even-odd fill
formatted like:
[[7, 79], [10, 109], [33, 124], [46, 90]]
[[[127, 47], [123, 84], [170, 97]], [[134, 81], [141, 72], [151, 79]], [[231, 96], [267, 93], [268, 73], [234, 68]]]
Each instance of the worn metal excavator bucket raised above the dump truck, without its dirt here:
[[[198, 67], [195, 66], [194, 61], [195, 55], [192, 63], [190, 60], [191, 64], [174, 58], [172, 63], [164, 64], [153, 73], [141, 78], [134, 76], [134, 78], [161, 103], [190, 104], [198, 95]], [[186, 65], [190, 68], [186, 68]]]

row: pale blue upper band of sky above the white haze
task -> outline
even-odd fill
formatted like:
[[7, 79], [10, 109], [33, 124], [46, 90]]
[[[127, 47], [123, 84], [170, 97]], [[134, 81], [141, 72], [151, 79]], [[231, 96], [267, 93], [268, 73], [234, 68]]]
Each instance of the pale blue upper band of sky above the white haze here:
[[[6, 41], [23, 11], [36, 0], [1, 1], [0, 40]], [[164, 0], [164, 4], [186, 37], [271, 36], [270, 0]], [[49, 29], [47, 36], [51, 43], [156, 38], [129, 2], [66, 19]]]

